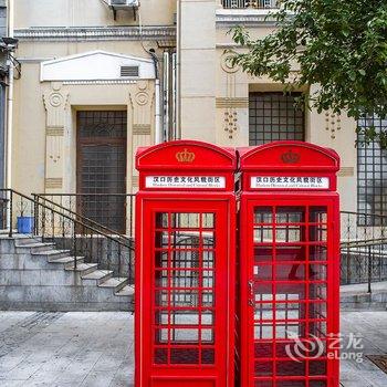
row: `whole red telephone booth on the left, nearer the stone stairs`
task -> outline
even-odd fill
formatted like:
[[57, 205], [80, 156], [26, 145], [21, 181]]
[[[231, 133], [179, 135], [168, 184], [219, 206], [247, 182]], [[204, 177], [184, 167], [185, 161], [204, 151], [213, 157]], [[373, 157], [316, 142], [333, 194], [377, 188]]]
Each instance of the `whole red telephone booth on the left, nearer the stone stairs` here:
[[136, 166], [135, 385], [231, 387], [236, 153], [178, 140]]

